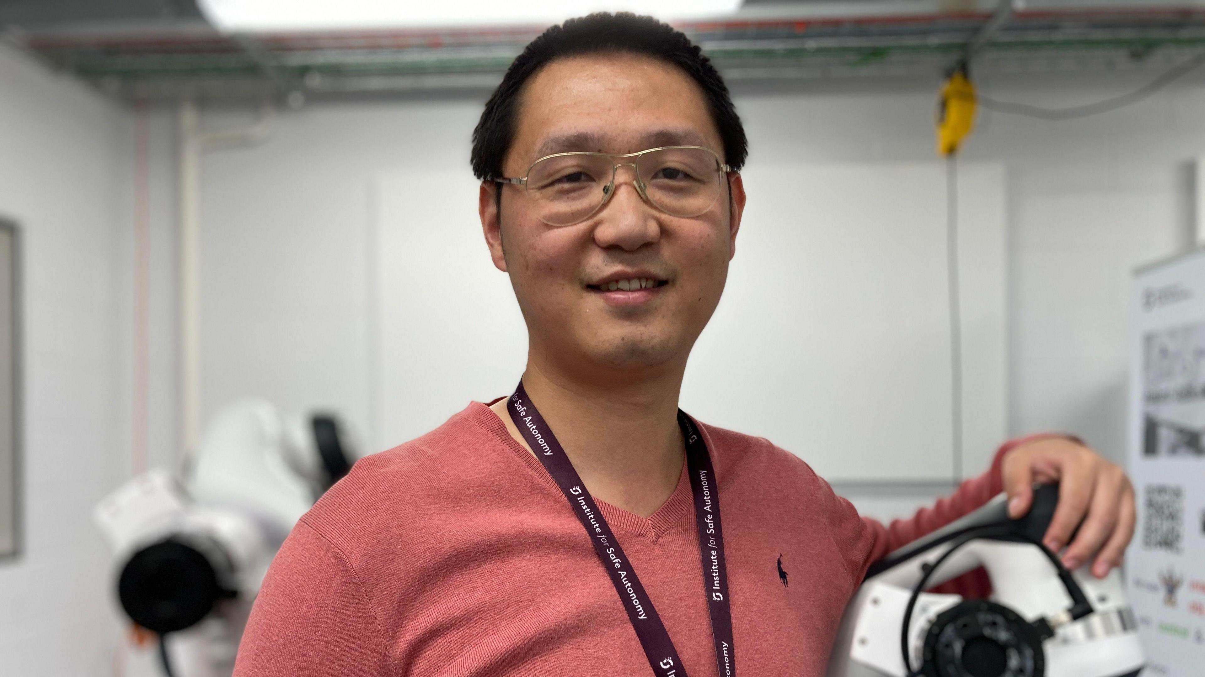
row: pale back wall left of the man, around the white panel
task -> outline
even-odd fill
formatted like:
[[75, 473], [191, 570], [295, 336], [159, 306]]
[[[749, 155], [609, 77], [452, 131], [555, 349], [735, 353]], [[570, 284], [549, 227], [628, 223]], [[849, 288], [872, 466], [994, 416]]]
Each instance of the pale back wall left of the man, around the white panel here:
[[[258, 395], [286, 412], [340, 411], [366, 438], [362, 454], [389, 445], [372, 435], [370, 190], [399, 167], [465, 167], [480, 106], [306, 107], [283, 112], [258, 146], [206, 152], [202, 422], [235, 398]], [[248, 122], [205, 119], [213, 129]]]

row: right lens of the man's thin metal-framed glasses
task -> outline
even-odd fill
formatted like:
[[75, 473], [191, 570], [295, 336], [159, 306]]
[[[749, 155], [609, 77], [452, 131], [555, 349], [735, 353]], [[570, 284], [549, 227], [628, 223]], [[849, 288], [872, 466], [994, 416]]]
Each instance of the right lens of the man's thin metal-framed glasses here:
[[637, 160], [645, 194], [659, 210], [696, 217], [719, 198], [719, 159], [703, 148], [663, 148]]

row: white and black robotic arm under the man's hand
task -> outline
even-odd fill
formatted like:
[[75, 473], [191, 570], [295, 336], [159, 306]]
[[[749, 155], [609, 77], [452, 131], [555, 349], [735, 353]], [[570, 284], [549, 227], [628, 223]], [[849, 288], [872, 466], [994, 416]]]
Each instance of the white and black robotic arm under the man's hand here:
[[[1135, 677], [1145, 658], [1121, 575], [1070, 572], [1041, 546], [1057, 502], [1057, 487], [1039, 487], [1009, 519], [998, 496], [872, 566], [828, 676]], [[989, 600], [923, 591], [978, 566]]]

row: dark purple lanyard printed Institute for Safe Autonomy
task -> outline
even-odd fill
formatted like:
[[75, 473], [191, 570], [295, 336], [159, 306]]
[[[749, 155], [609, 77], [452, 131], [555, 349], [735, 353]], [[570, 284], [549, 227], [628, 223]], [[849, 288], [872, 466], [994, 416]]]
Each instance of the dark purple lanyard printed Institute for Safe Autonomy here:
[[[540, 459], [548, 475], [557, 482], [560, 490], [572, 506], [574, 513], [581, 520], [590, 536], [594, 552], [598, 553], [615, 584], [619, 600], [628, 612], [628, 619], [636, 630], [640, 644], [648, 657], [648, 665], [658, 677], [687, 677], [682, 659], [670, 640], [665, 624], [662, 623], [652, 600], [640, 584], [640, 578], [628, 561], [628, 555], [619, 547], [619, 541], [611, 532], [602, 513], [589, 491], [582, 485], [582, 478], [574, 470], [574, 464], [565, 455], [565, 449], [557, 442], [552, 429], [536, 411], [535, 405], [523, 389], [523, 382], [506, 402], [506, 408], [516, 428], [523, 434], [535, 457]], [[686, 463], [690, 475], [690, 489], [694, 494], [694, 517], [699, 529], [699, 555], [703, 564], [704, 588], [707, 600], [707, 612], [711, 614], [711, 635], [716, 642], [716, 664], [721, 677], [736, 675], [736, 655], [733, 649], [733, 616], [728, 606], [728, 570], [724, 565], [724, 534], [719, 526], [719, 491], [716, 488], [716, 471], [711, 466], [711, 455], [703, 435], [695, 428], [690, 417], [678, 410], [678, 425], [686, 438]]]

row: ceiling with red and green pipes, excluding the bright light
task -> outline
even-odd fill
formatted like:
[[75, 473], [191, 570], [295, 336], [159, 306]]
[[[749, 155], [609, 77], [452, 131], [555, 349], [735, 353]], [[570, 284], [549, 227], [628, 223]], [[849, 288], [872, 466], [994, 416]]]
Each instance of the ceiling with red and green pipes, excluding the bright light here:
[[[676, 23], [735, 87], [980, 72], [1165, 71], [1205, 52], [1205, 4], [746, 0]], [[543, 27], [222, 33], [194, 0], [0, 0], [0, 36], [127, 101], [487, 90]]]

